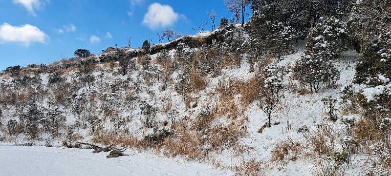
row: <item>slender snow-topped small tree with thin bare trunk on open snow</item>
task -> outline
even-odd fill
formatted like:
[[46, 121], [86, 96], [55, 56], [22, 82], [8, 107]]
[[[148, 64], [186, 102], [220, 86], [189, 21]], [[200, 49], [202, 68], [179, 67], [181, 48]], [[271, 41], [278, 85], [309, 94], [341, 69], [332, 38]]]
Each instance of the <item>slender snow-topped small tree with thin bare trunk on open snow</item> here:
[[267, 115], [268, 127], [271, 126], [271, 115], [284, 97], [285, 85], [282, 78], [286, 75], [285, 67], [277, 67], [272, 64], [264, 69], [264, 80], [261, 83], [257, 105]]

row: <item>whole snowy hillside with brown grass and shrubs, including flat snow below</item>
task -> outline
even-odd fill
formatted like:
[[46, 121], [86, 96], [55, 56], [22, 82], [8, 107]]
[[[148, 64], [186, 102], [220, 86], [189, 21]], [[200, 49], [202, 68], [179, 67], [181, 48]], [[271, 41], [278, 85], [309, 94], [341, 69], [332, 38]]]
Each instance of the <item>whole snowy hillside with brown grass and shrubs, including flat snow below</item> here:
[[0, 175], [390, 176], [391, 33], [354, 50], [335, 17], [302, 40], [255, 12], [164, 44], [7, 68]]

